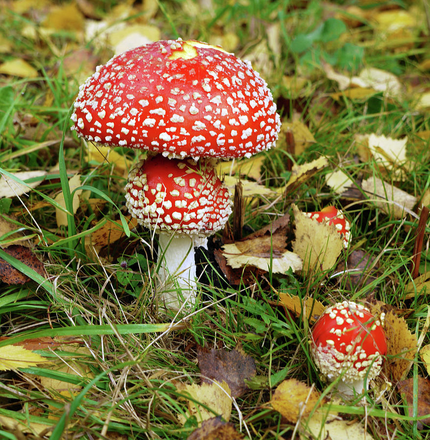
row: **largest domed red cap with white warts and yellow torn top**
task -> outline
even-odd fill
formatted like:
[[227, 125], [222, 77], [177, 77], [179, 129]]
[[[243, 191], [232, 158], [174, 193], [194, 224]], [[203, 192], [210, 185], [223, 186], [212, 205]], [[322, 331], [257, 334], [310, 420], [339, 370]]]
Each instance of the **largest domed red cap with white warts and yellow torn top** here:
[[280, 130], [265, 81], [219, 46], [169, 40], [98, 66], [79, 89], [79, 136], [169, 157], [250, 157]]

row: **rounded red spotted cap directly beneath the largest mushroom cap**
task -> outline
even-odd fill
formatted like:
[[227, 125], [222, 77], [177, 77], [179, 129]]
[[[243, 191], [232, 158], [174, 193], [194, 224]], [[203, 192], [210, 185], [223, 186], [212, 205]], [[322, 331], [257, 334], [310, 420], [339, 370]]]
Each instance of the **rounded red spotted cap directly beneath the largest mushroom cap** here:
[[229, 190], [207, 159], [140, 162], [128, 176], [126, 206], [148, 228], [207, 237], [220, 230], [232, 209]]

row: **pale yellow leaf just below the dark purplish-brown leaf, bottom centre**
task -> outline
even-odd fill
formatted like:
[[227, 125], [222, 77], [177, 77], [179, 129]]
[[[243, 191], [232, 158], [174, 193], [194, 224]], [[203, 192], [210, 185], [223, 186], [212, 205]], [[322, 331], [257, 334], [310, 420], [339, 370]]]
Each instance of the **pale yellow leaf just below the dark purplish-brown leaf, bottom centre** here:
[[[178, 391], [186, 398], [190, 396], [193, 400], [188, 400], [189, 417], [197, 418], [199, 425], [202, 421], [216, 416], [222, 416], [224, 420], [229, 421], [232, 412], [232, 398], [230, 388], [225, 381], [218, 383], [202, 383], [201, 385], [183, 384], [178, 387]], [[200, 402], [201, 405], [195, 403]], [[210, 408], [209, 411], [204, 406]], [[215, 414], [214, 414], [215, 413]], [[179, 421], [185, 424], [187, 419], [182, 414], [178, 416]]]

